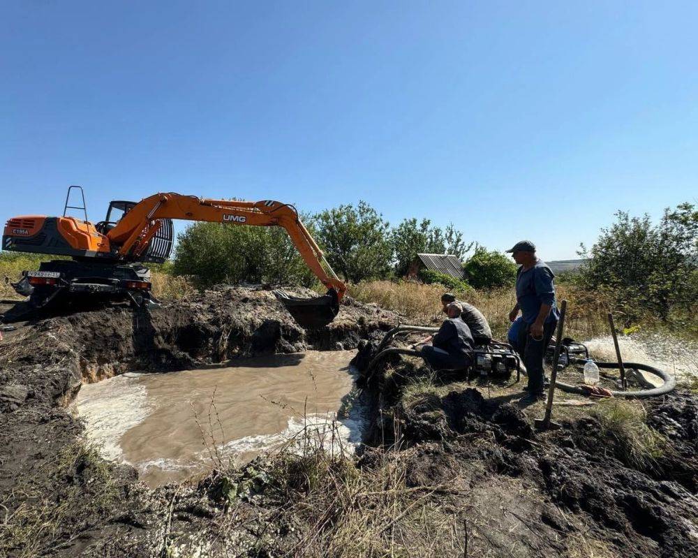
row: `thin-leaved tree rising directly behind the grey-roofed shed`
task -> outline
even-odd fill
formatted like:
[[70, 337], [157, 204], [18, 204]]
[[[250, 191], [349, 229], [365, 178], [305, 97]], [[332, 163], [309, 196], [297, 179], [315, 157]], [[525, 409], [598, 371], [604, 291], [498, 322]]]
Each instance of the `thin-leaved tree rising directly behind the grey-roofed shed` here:
[[461, 260], [473, 246], [466, 246], [463, 233], [449, 224], [445, 230], [431, 226], [429, 219], [403, 219], [390, 233], [395, 254], [395, 274], [406, 275], [417, 254], [452, 254]]

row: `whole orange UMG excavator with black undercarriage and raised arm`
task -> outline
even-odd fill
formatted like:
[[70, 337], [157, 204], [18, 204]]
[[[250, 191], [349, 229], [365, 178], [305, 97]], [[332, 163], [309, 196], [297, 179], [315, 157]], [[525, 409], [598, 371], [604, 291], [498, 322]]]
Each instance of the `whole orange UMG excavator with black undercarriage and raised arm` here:
[[[73, 189], [82, 193], [82, 207], [68, 205]], [[84, 210], [84, 220], [66, 216], [71, 208]], [[13, 287], [28, 296], [36, 309], [90, 298], [131, 300], [137, 306], [156, 304], [150, 271], [142, 264], [163, 263], [170, 256], [172, 219], [285, 228], [305, 263], [327, 287], [327, 294], [297, 298], [275, 291], [276, 297], [304, 328], [327, 325], [339, 312], [345, 284], [332, 271], [295, 207], [273, 200], [211, 200], [156, 193], [138, 203], [112, 201], [105, 220], [93, 224], [87, 220], [82, 188], [70, 186], [62, 217], [25, 215], [7, 221], [3, 249], [71, 258], [42, 262], [38, 271], [23, 272]]]

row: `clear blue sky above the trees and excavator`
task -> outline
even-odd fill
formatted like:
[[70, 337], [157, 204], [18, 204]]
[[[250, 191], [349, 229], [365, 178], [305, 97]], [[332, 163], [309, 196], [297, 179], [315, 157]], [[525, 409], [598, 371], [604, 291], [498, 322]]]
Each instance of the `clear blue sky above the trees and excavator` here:
[[[578, 5], [577, 5], [578, 4]], [[696, 2], [0, 0], [0, 219], [359, 199], [574, 258], [698, 200]]]

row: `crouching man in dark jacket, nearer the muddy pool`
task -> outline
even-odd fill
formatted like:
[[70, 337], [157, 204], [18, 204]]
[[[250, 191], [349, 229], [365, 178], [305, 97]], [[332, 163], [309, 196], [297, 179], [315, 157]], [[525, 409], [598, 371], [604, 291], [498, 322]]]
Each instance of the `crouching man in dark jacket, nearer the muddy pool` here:
[[461, 305], [452, 302], [446, 308], [448, 319], [433, 336], [422, 339], [419, 344], [431, 340], [431, 345], [422, 347], [422, 358], [434, 370], [454, 370], [470, 365], [473, 351], [473, 335], [468, 325], [461, 320]]

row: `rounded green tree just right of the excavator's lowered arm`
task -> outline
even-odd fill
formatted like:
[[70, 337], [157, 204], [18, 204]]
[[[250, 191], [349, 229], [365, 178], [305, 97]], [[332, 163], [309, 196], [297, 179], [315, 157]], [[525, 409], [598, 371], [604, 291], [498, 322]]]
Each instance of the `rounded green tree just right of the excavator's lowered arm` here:
[[389, 224], [369, 204], [359, 201], [318, 213], [313, 218], [325, 258], [344, 279], [386, 277], [392, 260]]

